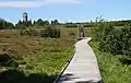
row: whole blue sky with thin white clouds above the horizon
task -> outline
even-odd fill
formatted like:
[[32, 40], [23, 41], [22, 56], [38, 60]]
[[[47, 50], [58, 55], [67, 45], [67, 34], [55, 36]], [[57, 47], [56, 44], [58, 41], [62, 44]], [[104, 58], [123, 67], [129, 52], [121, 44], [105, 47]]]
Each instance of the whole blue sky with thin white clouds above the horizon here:
[[0, 0], [0, 17], [16, 23], [23, 12], [28, 20], [87, 22], [131, 19], [131, 0]]

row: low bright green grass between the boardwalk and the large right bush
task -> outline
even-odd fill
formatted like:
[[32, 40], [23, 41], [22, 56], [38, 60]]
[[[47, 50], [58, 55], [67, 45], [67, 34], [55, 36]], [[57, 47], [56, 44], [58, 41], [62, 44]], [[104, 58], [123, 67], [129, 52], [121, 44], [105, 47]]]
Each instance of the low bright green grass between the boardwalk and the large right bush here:
[[97, 42], [92, 40], [90, 44], [96, 54], [104, 83], [131, 82], [131, 58], [129, 56], [102, 52]]

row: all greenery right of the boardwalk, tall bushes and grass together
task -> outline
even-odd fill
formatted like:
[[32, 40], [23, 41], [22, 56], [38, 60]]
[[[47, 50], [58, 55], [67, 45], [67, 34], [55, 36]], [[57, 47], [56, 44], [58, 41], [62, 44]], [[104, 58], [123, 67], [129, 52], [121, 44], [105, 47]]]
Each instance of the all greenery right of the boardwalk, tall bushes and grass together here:
[[131, 26], [116, 27], [110, 22], [96, 22], [90, 43], [97, 59], [104, 83], [130, 83]]

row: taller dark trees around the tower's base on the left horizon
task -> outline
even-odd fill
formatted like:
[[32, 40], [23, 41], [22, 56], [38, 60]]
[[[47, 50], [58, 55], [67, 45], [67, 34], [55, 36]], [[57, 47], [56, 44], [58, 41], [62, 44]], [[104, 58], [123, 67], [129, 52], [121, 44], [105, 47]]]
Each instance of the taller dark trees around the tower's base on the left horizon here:
[[58, 20], [53, 20], [51, 22], [49, 21], [43, 21], [41, 19], [38, 19], [37, 21], [27, 21], [27, 22], [23, 22], [23, 21], [19, 21], [16, 24], [13, 24], [11, 22], [8, 22], [3, 19], [0, 19], [0, 29], [24, 29], [26, 27], [46, 27], [47, 25], [58, 25], [59, 22]]

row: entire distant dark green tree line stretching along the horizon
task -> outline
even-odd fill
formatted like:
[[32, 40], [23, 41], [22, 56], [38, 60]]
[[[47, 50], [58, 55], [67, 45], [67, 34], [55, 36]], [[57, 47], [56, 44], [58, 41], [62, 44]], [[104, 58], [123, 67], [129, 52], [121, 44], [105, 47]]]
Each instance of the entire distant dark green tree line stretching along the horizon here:
[[[104, 23], [107, 23], [106, 21]], [[123, 21], [110, 21], [108, 23], [111, 23], [112, 26], [126, 26], [131, 25], [131, 20], [123, 20]], [[95, 22], [84, 22], [84, 23], [59, 23], [58, 20], [53, 20], [51, 22], [44, 21], [41, 19], [38, 19], [37, 21], [19, 21], [16, 24], [13, 24], [11, 22], [8, 22], [3, 19], [0, 19], [0, 29], [23, 29], [26, 27], [37, 27], [37, 28], [44, 28], [49, 25], [63, 25], [64, 27], [78, 27], [78, 24], [82, 24], [84, 27], [94, 27]]]

